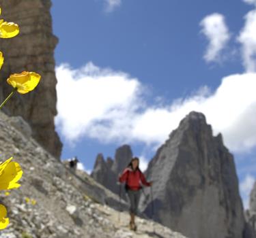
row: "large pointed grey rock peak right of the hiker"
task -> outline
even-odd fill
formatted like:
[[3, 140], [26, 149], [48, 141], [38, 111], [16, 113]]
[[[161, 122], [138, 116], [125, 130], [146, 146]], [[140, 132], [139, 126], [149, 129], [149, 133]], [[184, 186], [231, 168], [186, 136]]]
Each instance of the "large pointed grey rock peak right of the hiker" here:
[[[180, 122], [145, 174], [154, 181], [154, 220], [190, 238], [244, 237], [233, 156], [203, 114], [191, 112]], [[151, 216], [150, 189], [145, 193], [140, 207]]]

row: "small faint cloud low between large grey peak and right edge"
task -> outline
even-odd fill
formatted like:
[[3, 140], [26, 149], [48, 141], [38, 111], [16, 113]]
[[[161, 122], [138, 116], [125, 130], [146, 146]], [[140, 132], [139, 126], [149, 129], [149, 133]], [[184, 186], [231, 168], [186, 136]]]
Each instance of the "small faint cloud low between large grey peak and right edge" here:
[[241, 197], [244, 203], [244, 209], [248, 209], [250, 201], [250, 193], [253, 189], [253, 184], [255, 182], [255, 177], [247, 174], [244, 180], [240, 183]]

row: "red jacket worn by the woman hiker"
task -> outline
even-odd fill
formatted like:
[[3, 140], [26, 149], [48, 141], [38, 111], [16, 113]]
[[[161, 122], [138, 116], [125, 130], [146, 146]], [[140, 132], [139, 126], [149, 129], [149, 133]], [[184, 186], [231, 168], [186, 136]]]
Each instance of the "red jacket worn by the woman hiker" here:
[[143, 173], [138, 169], [135, 171], [130, 168], [124, 169], [118, 181], [121, 183], [127, 181], [126, 183], [131, 190], [139, 190], [141, 188], [141, 182], [145, 186], [150, 186], [150, 183], [147, 182]]

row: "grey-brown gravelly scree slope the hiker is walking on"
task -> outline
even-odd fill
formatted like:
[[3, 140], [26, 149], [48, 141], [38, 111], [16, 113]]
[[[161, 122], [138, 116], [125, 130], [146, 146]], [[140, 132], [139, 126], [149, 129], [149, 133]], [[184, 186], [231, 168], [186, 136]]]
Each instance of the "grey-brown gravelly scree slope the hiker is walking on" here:
[[86, 180], [85, 172], [71, 173], [31, 138], [21, 118], [0, 112], [0, 143], [1, 161], [13, 156], [23, 169], [20, 188], [0, 192], [10, 218], [1, 238], [184, 237], [143, 218], [137, 218], [138, 231], [130, 231], [127, 204], [122, 212], [107, 206], [120, 207], [118, 197]]

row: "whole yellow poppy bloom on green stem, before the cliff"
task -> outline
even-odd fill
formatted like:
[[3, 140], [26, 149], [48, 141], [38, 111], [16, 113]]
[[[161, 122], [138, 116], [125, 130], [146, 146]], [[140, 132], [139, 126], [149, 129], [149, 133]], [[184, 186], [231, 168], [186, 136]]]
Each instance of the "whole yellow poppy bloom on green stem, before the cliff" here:
[[7, 82], [18, 92], [24, 94], [33, 90], [39, 83], [41, 75], [34, 72], [23, 71], [22, 73], [14, 73], [10, 75]]

